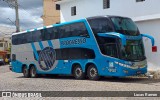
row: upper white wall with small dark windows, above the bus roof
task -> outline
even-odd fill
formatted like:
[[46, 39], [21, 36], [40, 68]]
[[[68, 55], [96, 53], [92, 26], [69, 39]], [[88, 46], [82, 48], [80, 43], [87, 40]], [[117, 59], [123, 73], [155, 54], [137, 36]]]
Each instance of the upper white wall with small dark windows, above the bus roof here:
[[[103, 9], [103, 0], [72, 0], [61, 3], [61, 22], [96, 15], [121, 15], [139, 17], [160, 13], [160, 0], [110, 0], [110, 8]], [[71, 7], [77, 7], [77, 15], [71, 16]]]

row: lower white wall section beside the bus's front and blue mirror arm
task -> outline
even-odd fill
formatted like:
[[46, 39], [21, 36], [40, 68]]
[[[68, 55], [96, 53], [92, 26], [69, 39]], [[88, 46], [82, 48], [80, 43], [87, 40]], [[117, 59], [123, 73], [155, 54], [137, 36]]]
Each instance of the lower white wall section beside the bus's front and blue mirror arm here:
[[141, 33], [150, 34], [155, 38], [158, 52], [152, 52], [150, 39], [144, 38], [145, 52], [149, 69], [160, 69], [160, 19], [137, 22]]

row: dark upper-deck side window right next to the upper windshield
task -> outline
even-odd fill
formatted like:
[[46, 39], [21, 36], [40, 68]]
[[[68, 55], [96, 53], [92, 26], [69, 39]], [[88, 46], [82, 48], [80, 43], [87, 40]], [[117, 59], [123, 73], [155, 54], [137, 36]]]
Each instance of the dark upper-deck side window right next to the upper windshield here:
[[107, 18], [88, 20], [94, 34], [112, 32], [113, 26]]

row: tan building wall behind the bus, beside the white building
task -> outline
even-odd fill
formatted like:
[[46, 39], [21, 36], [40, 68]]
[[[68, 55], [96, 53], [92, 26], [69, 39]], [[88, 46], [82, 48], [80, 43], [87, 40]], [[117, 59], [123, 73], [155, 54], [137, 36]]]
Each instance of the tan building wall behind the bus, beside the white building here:
[[44, 25], [51, 25], [60, 22], [60, 6], [56, 5], [54, 0], [43, 0], [43, 22]]

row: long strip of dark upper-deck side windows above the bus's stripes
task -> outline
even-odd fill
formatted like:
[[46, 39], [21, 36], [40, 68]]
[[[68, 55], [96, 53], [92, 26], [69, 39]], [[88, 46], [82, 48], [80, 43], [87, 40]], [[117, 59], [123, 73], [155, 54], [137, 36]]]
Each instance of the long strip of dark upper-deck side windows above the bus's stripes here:
[[13, 45], [25, 44], [31, 42], [46, 41], [50, 39], [67, 38], [74, 36], [89, 37], [84, 23], [74, 23], [58, 27], [45, 28], [33, 32], [13, 35]]

